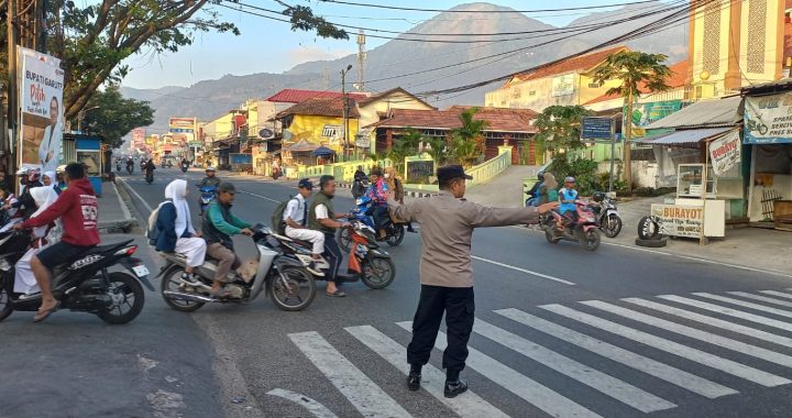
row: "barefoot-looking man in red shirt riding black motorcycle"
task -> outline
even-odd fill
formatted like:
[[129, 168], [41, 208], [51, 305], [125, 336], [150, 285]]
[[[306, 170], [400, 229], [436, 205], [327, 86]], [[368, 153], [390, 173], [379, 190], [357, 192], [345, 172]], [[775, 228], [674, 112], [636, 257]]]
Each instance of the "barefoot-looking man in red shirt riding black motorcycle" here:
[[65, 173], [68, 188], [57, 200], [35, 218], [14, 226], [14, 229], [31, 229], [50, 224], [58, 218], [63, 220], [64, 234], [59, 242], [42, 250], [31, 258], [31, 268], [41, 288], [42, 305], [33, 317], [36, 322], [43, 321], [59, 307], [52, 293], [52, 270], [73, 261], [88, 249], [101, 242], [97, 221], [99, 206], [96, 194], [82, 164], [70, 163]]

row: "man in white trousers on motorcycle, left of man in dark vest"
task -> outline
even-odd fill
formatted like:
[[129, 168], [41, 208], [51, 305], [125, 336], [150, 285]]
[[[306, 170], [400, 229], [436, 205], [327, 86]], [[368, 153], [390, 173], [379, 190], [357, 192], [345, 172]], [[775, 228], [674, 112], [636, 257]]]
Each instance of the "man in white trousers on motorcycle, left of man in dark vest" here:
[[314, 244], [311, 256], [314, 261], [308, 266], [308, 271], [315, 276], [323, 277], [324, 273], [316, 266], [316, 261], [321, 257], [324, 252], [324, 234], [320, 231], [308, 229], [308, 198], [314, 191], [311, 180], [304, 178], [297, 184], [299, 194], [293, 197], [286, 205], [284, 210], [284, 223], [286, 223], [286, 237], [308, 241]]

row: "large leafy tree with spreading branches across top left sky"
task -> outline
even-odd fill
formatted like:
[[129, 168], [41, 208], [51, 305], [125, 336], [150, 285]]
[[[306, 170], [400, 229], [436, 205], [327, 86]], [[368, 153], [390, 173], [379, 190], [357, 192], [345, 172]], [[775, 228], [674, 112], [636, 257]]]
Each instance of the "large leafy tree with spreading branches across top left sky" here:
[[[349, 38], [345, 31], [315, 15], [310, 8], [276, 1], [285, 8], [280, 13], [293, 31], [316, 31], [320, 37]], [[239, 35], [237, 26], [223, 22], [219, 13], [221, 9], [237, 9], [231, 6], [234, 2], [238, 0], [48, 0], [47, 51], [62, 58], [66, 72], [65, 119], [75, 119], [102, 85], [120, 82], [131, 70], [122, 63], [135, 54], [152, 54], [153, 58], [157, 54], [174, 53], [205, 32]], [[255, 12], [251, 9], [256, 7], [239, 6], [243, 7]], [[8, 1], [0, 0], [0, 15], [7, 10]], [[0, 55], [4, 55], [7, 40], [0, 38]], [[6, 74], [7, 68], [2, 73]]]

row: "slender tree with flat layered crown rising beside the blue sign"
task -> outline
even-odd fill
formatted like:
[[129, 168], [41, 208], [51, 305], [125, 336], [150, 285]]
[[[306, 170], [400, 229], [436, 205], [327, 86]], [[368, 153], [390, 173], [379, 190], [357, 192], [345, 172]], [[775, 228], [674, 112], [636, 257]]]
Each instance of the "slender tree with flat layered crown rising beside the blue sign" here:
[[620, 95], [625, 101], [624, 133], [624, 173], [627, 191], [632, 191], [632, 172], [630, 165], [630, 140], [632, 139], [632, 105], [640, 97], [638, 86], [651, 92], [670, 89], [666, 80], [673, 72], [663, 64], [668, 56], [663, 54], [646, 54], [637, 51], [623, 51], [609, 55], [594, 69], [594, 82], [605, 84], [609, 80], [620, 80], [622, 84], [610, 88], [606, 95]]

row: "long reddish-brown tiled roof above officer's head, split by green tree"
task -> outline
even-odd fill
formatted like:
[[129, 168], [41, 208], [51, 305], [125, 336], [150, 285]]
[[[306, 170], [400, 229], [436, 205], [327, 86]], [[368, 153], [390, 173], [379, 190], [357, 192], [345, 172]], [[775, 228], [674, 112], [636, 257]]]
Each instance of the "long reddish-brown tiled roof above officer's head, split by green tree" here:
[[[365, 128], [419, 128], [451, 130], [462, 128], [459, 119], [465, 107], [452, 107], [449, 110], [413, 110], [394, 109], [391, 119], [373, 123]], [[497, 109], [484, 108], [476, 113], [475, 119], [490, 122], [488, 132], [520, 132], [536, 133], [530, 124], [527, 109]], [[532, 112], [532, 111], [531, 111]], [[532, 112], [536, 116], [536, 112]]]

